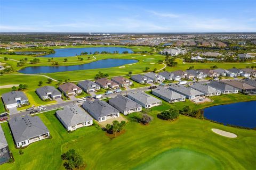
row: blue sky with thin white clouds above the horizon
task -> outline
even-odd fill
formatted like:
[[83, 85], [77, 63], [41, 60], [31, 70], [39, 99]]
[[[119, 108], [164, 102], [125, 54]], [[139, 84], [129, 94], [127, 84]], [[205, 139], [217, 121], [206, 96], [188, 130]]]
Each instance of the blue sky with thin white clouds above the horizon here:
[[0, 31], [256, 32], [256, 1], [4, 1]]

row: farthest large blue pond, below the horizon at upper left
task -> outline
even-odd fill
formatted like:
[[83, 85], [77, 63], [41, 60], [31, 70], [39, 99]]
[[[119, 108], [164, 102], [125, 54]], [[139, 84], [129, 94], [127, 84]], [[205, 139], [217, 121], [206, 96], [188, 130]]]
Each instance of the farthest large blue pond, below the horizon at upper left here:
[[44, 55], [42, 57], [71, 57], [80, 55], [83, 52], [88, 54], [93, 54], [94, 52], [110, 52], [113, 53], [118, 51], [118, 53], [123, 53], [125, 51], [133, 53], [130, 48], [123, 47], [88, 47], [88, 48], [56, 48], [54, 49], [54, 54]]

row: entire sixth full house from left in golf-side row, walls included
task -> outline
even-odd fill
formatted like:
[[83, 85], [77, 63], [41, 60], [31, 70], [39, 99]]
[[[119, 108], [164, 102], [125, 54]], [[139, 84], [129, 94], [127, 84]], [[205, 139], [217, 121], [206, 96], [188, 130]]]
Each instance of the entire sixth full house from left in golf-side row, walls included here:
[[177, 101], [185, 101], [185, 96], [178, 94], [178, 92], [172, 91], [164, 87], [158, 87], [152, 90], [152, 94], [169, 102], [174, 103]]

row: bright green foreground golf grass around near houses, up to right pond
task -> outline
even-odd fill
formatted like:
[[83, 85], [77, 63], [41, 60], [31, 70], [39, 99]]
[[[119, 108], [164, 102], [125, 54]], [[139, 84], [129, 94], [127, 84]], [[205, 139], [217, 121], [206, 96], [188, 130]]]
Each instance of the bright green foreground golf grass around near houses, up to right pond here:
[[[205, 120], [198, 120], [180, 115], [174, 122], [157, 118], [157, 113], [189, 105], [192, 108], [203, 108], [215, 104], [246, 101], [249, 96], [235, 94], [212, 97], [213, 103], [196, 105], [190, 101], [153, 107], [150, 115], [154, 117], [149, 125], [133, 121], [133, 114], [127, 118], [126, 132], [115, 139], [108, 138], [101, 129], [94, 126], [77, 129], [68, 133], [55, 117], [55, 111], [39, 114], [50, 130], [52, 139], [31, 144], [19, 155], [14, 148], [12, 136], [7, 123], [2, 123], [9, 147], [13, 152], [15, 163], [3, 164], [2, 169], [63, 169], [60, 155], [69, 149], [75, 149], [84, 158], [86, 169], [141, 169], [145, 166], [154, 168], [155, 159], [165, 153], [169, 165], [179, 169], [202, 167], [202, 169], [254, 169], [256, 133], [254, 130], [236, 129]], [[255, 100], [255, 96], [250, 98]], [[138, 114], [138, 113], [134, 113]], [[217, 128], [238, 135], [229, 139], [211, 131]], [[177, 148], [182, 149], [176, 152]], [[174, 149], [174, 150], [173, 150]], [[171, 154], [172, 152], [172, 154]], [[174, 155], [173, 155], [174, 154]], [[163, 158], [161, 166], [165, 166]], [[186, 164], [181, 167], [182, 162]], [[203, 165], [205, 166], [203, 166]], [[160, 166], [160, 165], [157, 165]]]

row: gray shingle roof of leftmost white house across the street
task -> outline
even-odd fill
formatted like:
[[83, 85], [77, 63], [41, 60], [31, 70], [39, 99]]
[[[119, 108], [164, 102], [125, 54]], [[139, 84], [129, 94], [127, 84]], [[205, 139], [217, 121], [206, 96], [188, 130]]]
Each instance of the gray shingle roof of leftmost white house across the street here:
[[11, 91], [2, 95], [5, 105], [17, 103], [15, 98], [21, 98], [21, 100], [27, 100], [27, 96], [22, 91]]

